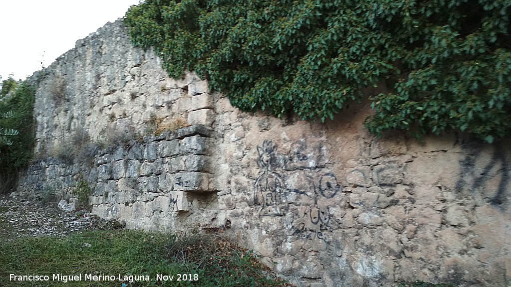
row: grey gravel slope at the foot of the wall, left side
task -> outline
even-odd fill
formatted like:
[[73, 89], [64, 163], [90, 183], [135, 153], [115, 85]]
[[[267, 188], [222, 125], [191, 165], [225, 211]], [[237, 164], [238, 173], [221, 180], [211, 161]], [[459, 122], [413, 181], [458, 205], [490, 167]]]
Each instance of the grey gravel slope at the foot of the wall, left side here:
[[61, 209], [10, 195], [0, 195], [0, 240], [27, 236], [65, 236], [85, 230], [118, 229], [117, 221], [106, 221], [85, 210], [67, 212]]

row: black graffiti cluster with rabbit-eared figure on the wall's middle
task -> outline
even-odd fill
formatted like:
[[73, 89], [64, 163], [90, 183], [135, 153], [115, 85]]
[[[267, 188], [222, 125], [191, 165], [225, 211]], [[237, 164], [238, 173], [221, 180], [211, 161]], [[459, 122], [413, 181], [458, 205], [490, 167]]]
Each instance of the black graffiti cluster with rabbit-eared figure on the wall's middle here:
[[318, 167], [317, 149], [299, 141], [291, 145], [288, 155], [277, 155], [273, 142], [265, 140], [257, 151], [263, 169], [254, 182], [254, 204], [260, 206], [259, 216], [285, 216], [292, 212], [293, 227], [298, 232], [309, 231], [323, 240], [330, 222], [329, 200], [341, 186], [332, 172]]

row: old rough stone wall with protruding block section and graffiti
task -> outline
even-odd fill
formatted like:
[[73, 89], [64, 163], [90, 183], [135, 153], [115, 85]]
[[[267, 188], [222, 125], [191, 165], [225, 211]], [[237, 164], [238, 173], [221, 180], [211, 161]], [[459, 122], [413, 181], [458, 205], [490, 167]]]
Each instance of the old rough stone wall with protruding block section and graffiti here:
[[194, 74], [167, 77], [121, 21], [39, 78], [21, 194], [77, 203], [81, 175], [98, 216], [225, 229], [297, 286], [511, 286], [509, 141], [377, 138], [367, 104], [324, 124], [243, 113]]

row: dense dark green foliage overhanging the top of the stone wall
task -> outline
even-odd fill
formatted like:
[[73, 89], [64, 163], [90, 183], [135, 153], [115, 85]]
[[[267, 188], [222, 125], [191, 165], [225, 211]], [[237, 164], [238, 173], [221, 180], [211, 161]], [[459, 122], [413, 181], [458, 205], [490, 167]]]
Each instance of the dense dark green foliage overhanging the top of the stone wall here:
[[511, 1], [146, 0], [125, 25], [170, 76], [195, 70], [243, 111], [333, 118], [360, 90], [376, 134], [511, 134]]

